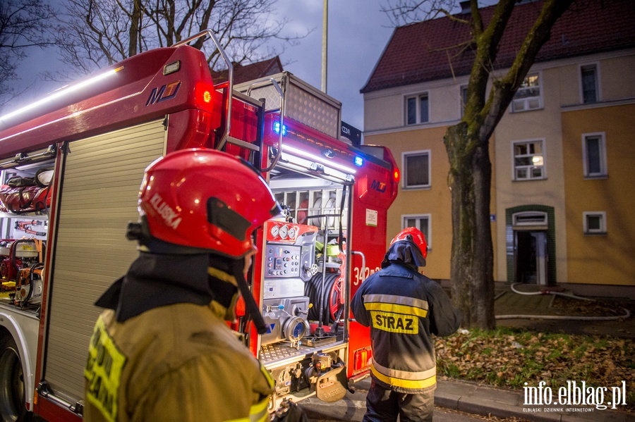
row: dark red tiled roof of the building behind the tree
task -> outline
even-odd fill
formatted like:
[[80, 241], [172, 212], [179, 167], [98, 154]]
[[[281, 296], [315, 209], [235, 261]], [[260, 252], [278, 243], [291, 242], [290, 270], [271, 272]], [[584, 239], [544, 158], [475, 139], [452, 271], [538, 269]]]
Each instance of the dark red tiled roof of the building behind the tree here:
[[[528, 29], [540, 13], [543, 1], [514, 8], [497, 55], [497, 68], [509, 68]], [[488, 23], [495, 6], [482, 8]], [[469, 15], [461, 15], [468, 18]], [[536, 62], [581, 56], [635, 46], [634, 0], [583, 0], [574, 2], [552, 28]], [[425, 20], [397, 27], [373, 73], [360, 92], [411, 85], [428, 80], [467, 75], [473, 63], [468, 25], [450, 18]]]

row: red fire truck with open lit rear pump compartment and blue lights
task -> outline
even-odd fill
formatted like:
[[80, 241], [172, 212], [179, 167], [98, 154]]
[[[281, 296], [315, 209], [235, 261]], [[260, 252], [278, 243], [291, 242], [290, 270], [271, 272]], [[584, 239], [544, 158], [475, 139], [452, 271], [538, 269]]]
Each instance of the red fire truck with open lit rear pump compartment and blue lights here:
[[[206, 37], [229, 67], [214, 85]], [[232, 325], [285, 397], [333, 402], [368, 375], [368, 330], [349, 299], [380, 267], [399, 173], [384, 147], [340, 137], [341, 104], [279, 73], [234, 86], [210, 30], [146, 51], [0, 117], [0, 416], [79, 421], [102, 292], [137, 256], [145, 167], [176, 149], [243, 156], [284, 216], [258, 231], [250, 271], [267, 333]], [[227, 175], [231, 183], [231, 175]]]

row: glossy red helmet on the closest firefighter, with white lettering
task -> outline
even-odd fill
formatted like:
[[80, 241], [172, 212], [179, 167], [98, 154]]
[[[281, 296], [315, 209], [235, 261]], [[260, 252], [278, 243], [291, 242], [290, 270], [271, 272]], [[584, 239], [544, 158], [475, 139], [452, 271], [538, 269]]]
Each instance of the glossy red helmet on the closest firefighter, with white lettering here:
[[147, 166], [139, 213], [151, 237], [239, 258], [253, 248], [253, 230], [277, 216], [280, 207], [246, 161], [198, 148], [172, 152]]

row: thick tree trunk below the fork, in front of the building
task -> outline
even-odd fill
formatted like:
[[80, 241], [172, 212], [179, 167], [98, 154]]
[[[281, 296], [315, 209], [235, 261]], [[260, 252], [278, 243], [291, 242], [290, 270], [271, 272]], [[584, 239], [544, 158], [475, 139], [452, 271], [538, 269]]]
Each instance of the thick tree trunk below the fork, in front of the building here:
[[448, 128], [444, 143], [452, 192], [452, 299], [463, 311], [464, 327], [492, 329], [496, 321], [489, 142], [478, 139], [462, 122]]

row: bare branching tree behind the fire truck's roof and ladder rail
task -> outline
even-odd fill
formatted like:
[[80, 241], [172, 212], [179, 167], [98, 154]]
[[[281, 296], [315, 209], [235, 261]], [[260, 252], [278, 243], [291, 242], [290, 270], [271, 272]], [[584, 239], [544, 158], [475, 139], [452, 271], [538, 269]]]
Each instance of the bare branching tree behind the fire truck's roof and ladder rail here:
[[[276, 0], [67, 0], [59, 15], [57, 44], [63, 61], [78, 74], [161, 46], [171, 46], [211, 29], [234, 63], [250, 63], [279, 54], [280, 48], [306, 36], [282, 36], [285, 18], [273, 14]], [[203, 39], [210, 67], [222, 67], [218, 51]], [[49, 75], [56, 80], [77, 75]]]

